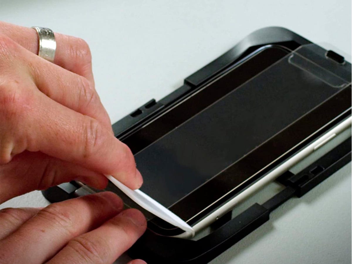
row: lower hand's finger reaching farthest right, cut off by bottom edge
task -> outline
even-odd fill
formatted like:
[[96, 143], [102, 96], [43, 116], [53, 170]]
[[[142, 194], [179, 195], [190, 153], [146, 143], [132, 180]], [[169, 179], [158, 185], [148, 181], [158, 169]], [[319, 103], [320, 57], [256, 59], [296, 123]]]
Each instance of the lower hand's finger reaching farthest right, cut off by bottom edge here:
[[113, 263], [145, 230], [143, 214], [126, 209], [95, 230], [69, 241], [48, 263]]

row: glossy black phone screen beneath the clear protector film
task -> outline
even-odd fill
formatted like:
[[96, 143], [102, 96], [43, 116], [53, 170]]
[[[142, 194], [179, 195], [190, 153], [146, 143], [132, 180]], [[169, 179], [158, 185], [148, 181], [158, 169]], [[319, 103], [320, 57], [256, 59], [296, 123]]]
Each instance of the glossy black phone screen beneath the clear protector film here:
[[[288, 53], [276, 47], [261, 50], [176, 106], [174, 113], [145, 126], [141, 133], [147, 137], [128, 138], [144, 178], [141, 190], [191, 224], [349, 107], [340, 97], [322, 106], [342, 88], [294, 65], [289, 71], [275, 63], [266, 69], [268, 62]], [[344, 104], [335, 105], [339, 100]], [[175, 116], [178, 124], [171, 126]], [[156, 129], [163, 134], [151, 140]]]

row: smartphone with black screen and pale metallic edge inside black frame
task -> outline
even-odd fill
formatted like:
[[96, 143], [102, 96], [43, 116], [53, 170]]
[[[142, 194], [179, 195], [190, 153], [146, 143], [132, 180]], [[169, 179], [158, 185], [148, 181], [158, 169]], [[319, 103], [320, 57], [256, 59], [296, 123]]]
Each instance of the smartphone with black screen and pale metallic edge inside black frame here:
[[[260, 47], [121, 138], [143, 175], [140, 189], [197, 232], [350, 127], [351, 81], [291, 55]], [[107, 190], [141, 209], [154, 232], [187, 238], [113, 184]]]

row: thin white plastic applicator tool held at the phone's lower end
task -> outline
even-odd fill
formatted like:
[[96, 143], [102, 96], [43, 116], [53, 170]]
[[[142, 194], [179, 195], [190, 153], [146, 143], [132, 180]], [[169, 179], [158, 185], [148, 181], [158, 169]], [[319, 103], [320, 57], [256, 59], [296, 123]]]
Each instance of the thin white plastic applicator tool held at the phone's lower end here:
[[142, 206], [147, 211], [151, 212], [153, 215], [158, 216], [164, 221], [181, 228], [183, 231], [191, 234], [194, 237], [194, 229], [188, 225], [185, 221], [179, 218], [176, 214], [172, 213], [169, 209], [152, 199], [150, 196], [143, 193], [141, 190], [132, 190], [125, 186], [123, 183], [116, 180], [111, 175], [106, 175], [106, 177], [124, 194], [130, 197], [139, 206]]

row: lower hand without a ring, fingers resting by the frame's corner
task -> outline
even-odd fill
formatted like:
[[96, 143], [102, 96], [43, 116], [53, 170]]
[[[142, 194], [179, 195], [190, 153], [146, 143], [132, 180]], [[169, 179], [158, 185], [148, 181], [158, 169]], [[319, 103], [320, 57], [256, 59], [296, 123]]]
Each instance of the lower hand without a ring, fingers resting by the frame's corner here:
[[142, 213], [122, 206], [104, 192], [44, 209], [2, 209], [0, 263], [113, 263], [146, 228]]

